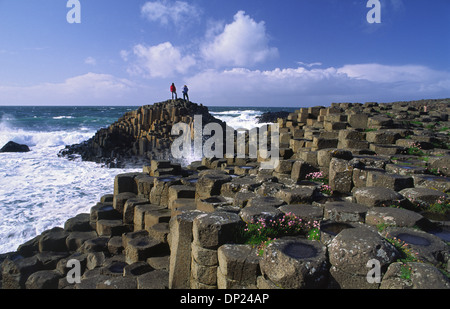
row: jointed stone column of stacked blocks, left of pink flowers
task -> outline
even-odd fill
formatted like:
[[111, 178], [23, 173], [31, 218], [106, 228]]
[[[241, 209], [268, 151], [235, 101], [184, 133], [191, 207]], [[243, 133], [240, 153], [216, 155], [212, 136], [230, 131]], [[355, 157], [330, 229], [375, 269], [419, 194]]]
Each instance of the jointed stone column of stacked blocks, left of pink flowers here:
[[242, 227], [243, 221], [234, 213], [200, 214], [194, 219], [191, 248], [197, 254], [192, 254], [191, 288], [217, 288], [217, 249], [234, 243]]

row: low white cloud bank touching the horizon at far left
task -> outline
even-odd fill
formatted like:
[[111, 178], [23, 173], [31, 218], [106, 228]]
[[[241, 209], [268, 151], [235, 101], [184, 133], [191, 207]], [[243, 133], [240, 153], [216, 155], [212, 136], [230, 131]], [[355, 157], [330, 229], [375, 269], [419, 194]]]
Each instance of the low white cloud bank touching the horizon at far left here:
[[125, 104], [136, 85], [109, 74], [87, 73], [62, 83], [33, 86], [1, 86], [0, 103], [6, 105], [102, 105]]

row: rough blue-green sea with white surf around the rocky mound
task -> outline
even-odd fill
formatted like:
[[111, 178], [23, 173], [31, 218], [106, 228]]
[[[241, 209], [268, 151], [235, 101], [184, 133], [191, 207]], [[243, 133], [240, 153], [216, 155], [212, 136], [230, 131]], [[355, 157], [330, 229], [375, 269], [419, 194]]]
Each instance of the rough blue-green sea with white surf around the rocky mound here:
[[[138, 106], [0, 106], [0, 148], [26, 144], [30, 152], [0, 153], [0, 254], [67, 219], [89, 213], [114, 188], [114, 177], [135, 168], [58, 157], [66, 145], [81, 143]], [[235, 129], [250, 129], [265, 112], [284, 107], [208, 107]]]

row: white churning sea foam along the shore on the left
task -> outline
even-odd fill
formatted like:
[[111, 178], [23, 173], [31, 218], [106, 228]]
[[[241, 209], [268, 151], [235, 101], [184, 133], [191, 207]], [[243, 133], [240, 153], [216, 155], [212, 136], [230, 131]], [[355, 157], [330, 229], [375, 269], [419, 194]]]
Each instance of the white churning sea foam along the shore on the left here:
[[0, 147], [12, 140], [31, 149], [0, 153], [0, 253], [88, 213], [102, 195], [112, 193], [115, 175], [131, 171], [57, 156], [64, 145], [80, 143], [94, 133], [14, 130], [0, 123]]

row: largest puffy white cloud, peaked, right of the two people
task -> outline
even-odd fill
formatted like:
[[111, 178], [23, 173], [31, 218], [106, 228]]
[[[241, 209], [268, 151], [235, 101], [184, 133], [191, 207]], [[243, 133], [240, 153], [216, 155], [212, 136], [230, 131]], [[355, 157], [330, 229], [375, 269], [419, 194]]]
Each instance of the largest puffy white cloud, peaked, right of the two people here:
[[278, 50], [269, 46], [264, 22], [257, 23], [239, 11], [222, 33], [202, 46], [201, 55], [218, 67], [252, 66], [278, 56]]

